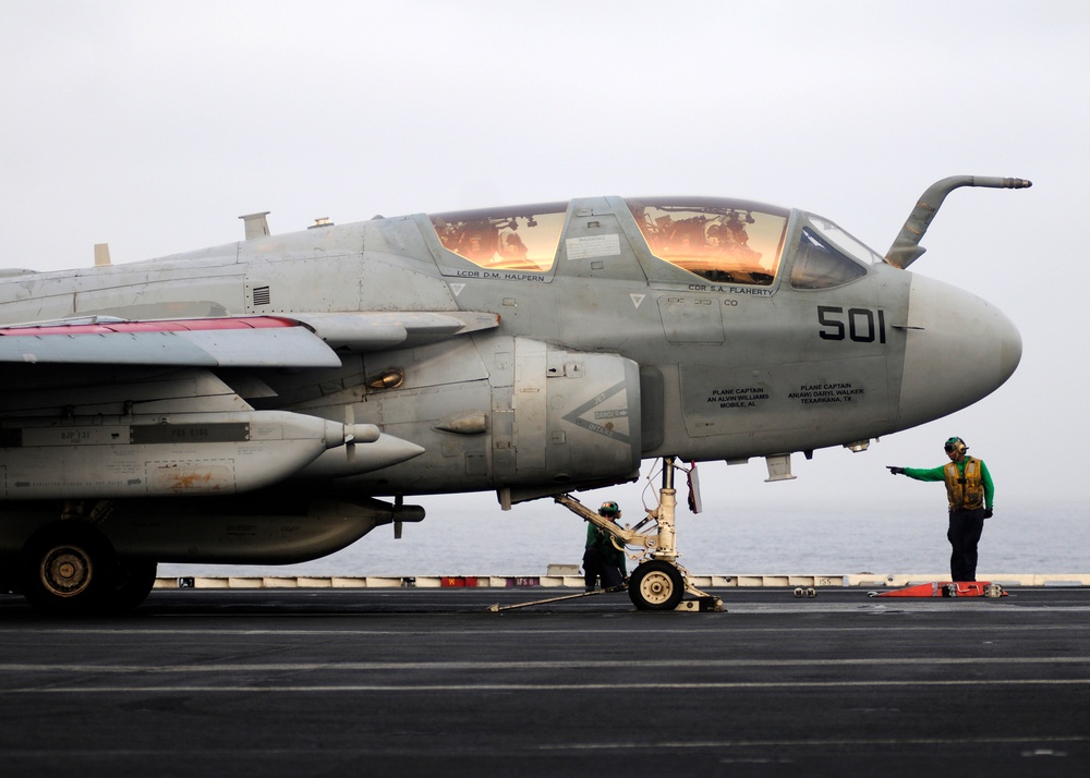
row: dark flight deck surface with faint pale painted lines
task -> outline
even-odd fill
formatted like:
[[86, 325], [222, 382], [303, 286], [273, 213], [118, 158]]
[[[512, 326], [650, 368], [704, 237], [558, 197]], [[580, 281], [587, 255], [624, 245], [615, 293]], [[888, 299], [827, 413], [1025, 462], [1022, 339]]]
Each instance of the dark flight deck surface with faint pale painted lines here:
[[723, 588], [726, 612], [542, 589], [0, 596], [3, 775], [1086, 775], [1090, 588]]

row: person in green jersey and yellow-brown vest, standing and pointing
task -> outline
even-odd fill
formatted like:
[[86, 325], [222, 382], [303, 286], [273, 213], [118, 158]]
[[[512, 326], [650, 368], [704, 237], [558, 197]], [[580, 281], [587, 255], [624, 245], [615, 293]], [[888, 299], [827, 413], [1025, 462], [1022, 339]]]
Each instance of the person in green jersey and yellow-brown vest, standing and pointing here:
[[889, 467], [894, 475], [904, 474], [917, 481], [946, 482], [950, 502], [950, 523], [946, 537], [950, 542], [950, 576], [954, 581], [977, 580], [977, 543], [984, 530], [984, 520], [992, 518], [995, 486], [983, 460], [966, 455], [969, 447], [961, 438], [950, 438], [945, 445], [949, 464], [938, 467]]

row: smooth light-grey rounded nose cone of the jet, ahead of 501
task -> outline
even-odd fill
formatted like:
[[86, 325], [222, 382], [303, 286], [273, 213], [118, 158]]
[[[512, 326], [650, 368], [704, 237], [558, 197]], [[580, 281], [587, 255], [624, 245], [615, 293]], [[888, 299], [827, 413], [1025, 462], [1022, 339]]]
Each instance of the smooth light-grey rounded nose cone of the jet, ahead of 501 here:
[[991, 303], [913, 276], [900, 421], [912, 426], [971, 405], [995, 391], [1021, 360], [1021, 337]]

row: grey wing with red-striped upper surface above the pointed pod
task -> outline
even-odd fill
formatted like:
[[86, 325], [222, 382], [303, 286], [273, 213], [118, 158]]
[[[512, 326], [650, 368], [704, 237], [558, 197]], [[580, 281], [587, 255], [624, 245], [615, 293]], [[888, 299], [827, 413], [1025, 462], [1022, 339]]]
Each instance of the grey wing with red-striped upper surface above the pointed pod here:
[[336, 350], [423, 345], [498, 324], [464, 312], [62, 320], [0, 328], [0, 363], [337, 367]]

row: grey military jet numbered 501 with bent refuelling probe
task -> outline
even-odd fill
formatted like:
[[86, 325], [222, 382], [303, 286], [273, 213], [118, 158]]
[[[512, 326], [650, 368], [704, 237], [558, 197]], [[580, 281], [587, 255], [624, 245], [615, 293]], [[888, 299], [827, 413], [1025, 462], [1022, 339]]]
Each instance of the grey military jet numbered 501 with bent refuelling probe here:
[[884, 257], [802, 210], [589, 197], [0, 271], [0, 567], [41, 609], [126, 608], [158, 562], [314, 559], [413, 495], [609, 524], [569, 493], [663, 458], [658, 507], [609, 527], [637, 607], [676, 608], [676, 461], [788, 478], [1010, 376], [1012, 323], [907, 268], [952, 190], [1029, 185], [940, 181]]

